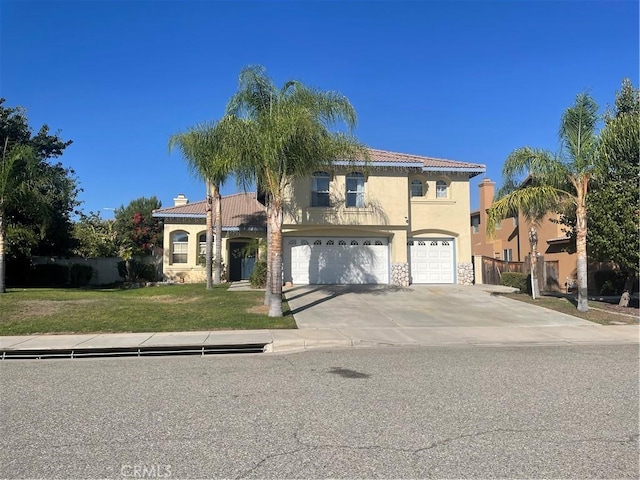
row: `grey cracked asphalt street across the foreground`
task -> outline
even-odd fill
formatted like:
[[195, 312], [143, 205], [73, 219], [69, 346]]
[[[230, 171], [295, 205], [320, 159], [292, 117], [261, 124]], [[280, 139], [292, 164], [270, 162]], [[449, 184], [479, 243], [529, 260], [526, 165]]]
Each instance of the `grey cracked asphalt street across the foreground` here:
[[638, 368], [637, 345], [0, 362], [0, 478], [637, 479]]

